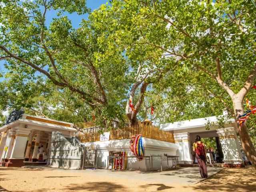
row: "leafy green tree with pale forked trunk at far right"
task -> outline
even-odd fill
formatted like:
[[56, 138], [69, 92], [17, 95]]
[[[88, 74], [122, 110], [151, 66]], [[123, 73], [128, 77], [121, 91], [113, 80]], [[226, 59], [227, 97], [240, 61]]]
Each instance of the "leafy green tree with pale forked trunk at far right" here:
[[[256, 76], [256, 7], [243, 0], [110, 1], [121, 36], [173, 58], [170, 71], [194, 76], [194, 86], [219, 99], [235, 118]], [[154, 55], [152, 55], [153, 57]], [[174, 64], [175, 60], [179, 60]], [[186, 75], [184, 76], [186, 78]], [[182, 81], [182, 79], [180, 79]], [[237, 124], [242, 148], [256, 168], [246, 124]]]

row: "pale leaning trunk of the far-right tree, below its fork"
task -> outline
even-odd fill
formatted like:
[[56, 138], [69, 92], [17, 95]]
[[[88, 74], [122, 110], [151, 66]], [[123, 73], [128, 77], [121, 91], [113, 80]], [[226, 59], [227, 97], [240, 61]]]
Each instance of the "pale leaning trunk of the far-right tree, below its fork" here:
[[[236, 98], [232, 99], [232, 100], [233, 100], [233, 105], [234, 105], [235, 116], [237, 119], [238, 116], [240, 116], [244, 113], [244, 110], [242, 107], [243, 98], [236, 95]], [[256, 150], [252, 144], [252, 140], [248, 133], [247, 126], [246, 126], [246, 124], [237, 123], [237, 127], [238, 127], [238, 133], [240, 135], [240, 141], [241, 141], [244, 153], [246, 154], [246, 156], [248, 157], [248, 159], [250, 160], [250, 162], [256, 169]]]

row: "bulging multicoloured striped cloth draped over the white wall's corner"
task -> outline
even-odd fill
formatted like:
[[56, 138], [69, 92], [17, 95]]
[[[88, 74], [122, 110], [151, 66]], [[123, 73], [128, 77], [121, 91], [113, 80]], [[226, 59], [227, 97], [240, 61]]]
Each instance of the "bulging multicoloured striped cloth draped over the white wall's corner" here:
[[[130, 140], [130, 149], [135, 156], [143, 156], [144, 148], [142, 144], [142, 134], [132, 135]], [[142, 160], [143, 158], [139, 158], [138, 160]]]

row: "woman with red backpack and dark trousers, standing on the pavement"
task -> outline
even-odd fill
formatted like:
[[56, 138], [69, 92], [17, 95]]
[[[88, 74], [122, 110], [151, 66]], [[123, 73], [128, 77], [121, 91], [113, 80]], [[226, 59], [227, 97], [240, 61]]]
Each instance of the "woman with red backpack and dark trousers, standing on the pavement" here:
[[206, 169], [206, 146], [201, 141], [199, 135], [196, 136], [195, 142], [193, 144], [193, 151], [196, 152], [196, 159], [198, 161], [199, 171], [202, 178], [207, 178]]

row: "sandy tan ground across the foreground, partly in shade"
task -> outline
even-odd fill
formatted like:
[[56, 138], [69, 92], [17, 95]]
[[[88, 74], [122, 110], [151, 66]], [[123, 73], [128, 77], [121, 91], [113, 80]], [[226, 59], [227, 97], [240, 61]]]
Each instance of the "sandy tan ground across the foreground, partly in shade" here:
[[[132, 175], [131, 175], [132, 178]], [[256, 192], [256, 170], [246, 168], [224, 169], [218, 174], [194, 185], [166, 184], [84, 173], [42, 170], [32, 168], [0, 167], [0, 192]]]

